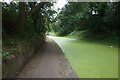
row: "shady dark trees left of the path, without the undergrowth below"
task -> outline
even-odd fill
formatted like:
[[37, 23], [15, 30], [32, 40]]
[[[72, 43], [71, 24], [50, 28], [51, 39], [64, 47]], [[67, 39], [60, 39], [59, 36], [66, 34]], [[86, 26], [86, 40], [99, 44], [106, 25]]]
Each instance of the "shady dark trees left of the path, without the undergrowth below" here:
[[46, 25], [55, 13], [51, 6], [53, 4], [50, 2], [3, 3], [4, 31], [10, 35], [17, 35], [31, 30], [41, 36], [45, 35]]

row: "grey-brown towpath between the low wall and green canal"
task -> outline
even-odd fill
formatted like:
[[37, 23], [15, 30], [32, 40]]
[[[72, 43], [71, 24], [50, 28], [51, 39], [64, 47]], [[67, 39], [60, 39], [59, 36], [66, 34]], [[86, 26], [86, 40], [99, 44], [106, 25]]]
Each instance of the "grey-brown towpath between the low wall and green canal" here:
[[17, 78], [77, 78], [60, 47], [50, 38]]

